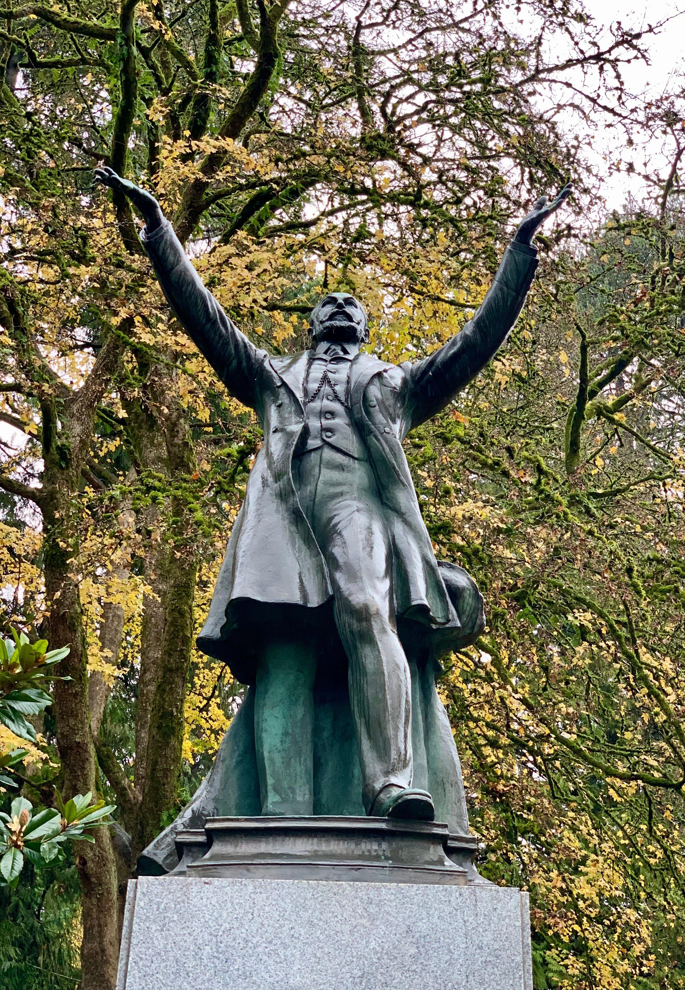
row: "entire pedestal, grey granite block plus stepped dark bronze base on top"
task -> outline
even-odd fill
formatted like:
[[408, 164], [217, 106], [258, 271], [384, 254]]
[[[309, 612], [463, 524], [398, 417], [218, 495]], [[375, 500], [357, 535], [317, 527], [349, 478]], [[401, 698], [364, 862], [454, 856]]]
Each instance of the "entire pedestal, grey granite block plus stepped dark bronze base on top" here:
[[533, 990], [528, 895], [468, 882], [446, 826], [212, 819], [177, 843], [129, 883], [118, 990]]

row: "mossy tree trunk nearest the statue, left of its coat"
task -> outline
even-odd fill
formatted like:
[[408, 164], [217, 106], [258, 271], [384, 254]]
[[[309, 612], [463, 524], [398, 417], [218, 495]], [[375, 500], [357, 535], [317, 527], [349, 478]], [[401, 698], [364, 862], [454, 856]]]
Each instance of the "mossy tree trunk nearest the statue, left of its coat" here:
[[[181, 768], [183, 705], [193, 636], [198, 546], [192, 515], [173, 484], [195, 470], [187, 414], [176, 376], [158, 363], [141, 398], [129, 407], [132, 434], [144, 472], [163, 478], [170, 494], [150, 506], [144, 527], [154, 542], [147, 554], [141, 630], [141, 671], [136, 709], [136, 812], [130, 823], [132, 863], [159, 832], [161, 815], [174, 805]], [[165, 525], [164, 517], [168, 518]], [[127, 824], [129, 824], [127, 822]]]

